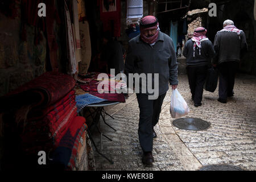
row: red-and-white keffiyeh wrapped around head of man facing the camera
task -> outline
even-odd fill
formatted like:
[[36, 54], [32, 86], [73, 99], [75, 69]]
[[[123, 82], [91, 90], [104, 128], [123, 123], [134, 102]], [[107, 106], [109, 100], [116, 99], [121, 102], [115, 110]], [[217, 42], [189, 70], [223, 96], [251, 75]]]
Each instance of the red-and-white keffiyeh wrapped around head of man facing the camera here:
[[[155, 16], [150, 16], [150, 15], [144, 16], [140, 22], [140, 29], [141, 29], [141, 39], [143, 40], [143, 42], [146, 42], [148, 44], [153, 44], [156, 42], [159, 35], [159, 23], [158, 23], [158, 19]], [[148, 38], [143, 33], [144, 31], [151, 30], [151, 29], [156, 29], [157, 31], [155, 35]]]

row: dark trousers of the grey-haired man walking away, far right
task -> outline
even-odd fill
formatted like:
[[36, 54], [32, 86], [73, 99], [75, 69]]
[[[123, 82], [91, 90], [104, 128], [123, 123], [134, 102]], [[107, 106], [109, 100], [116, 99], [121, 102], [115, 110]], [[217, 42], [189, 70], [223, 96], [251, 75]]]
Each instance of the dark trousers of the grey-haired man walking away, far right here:
[[236, 61], [224, 62], [218, 65], [220, 81], [218, 85], [218, 97], [226, 100], [233, 94], [234, 82], [239, 63]]

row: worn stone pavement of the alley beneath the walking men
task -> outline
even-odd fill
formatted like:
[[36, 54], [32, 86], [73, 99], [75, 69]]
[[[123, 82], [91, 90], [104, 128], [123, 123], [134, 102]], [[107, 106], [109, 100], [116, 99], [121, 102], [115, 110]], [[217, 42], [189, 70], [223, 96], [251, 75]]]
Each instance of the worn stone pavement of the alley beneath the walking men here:
[[[164, 99], [158, 125], [158, 138], [154, 139], [154, 166], [144, 167], [141, 162], [141, 147], [138, 140], [139, 108], [136, 94], [130, 95], [126, 103], [106, 107], [114, 119], [106, 121], [117, 131], [101, 122], [100, 129], [110, 142], [102, 137], [101, 152], [113, 160], [102, 158], [95, 150], [97, 170], [198, 170], [209, 164], [231, 164], [245, 170], [256, 170], [256, 77], [238, 75], [234, 86], [234, 97], [227, 104], [217, 101], [218, 90], [204, 91], [203, 106], [194, 107], [188, 79], [179, 75], [177, 88], [191, 110], [187, 117], [205, 119], [210, 128], [205, 131], [187, 131], [172, 126], [170, 117], [171, 89]], [[100, 134], [93, 133], [97, 146]], [[100, 148], [100, 147], [99, 147]]]

